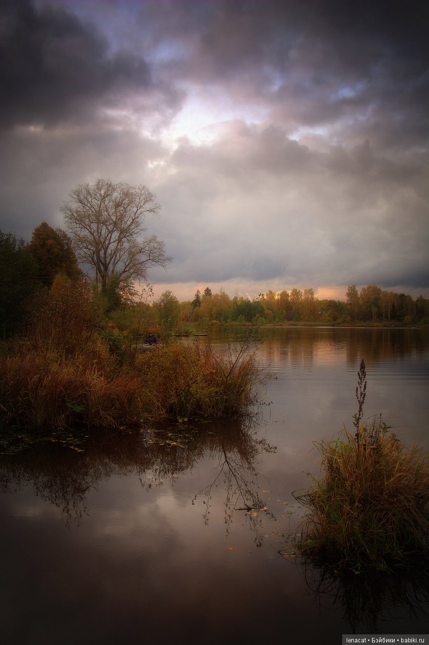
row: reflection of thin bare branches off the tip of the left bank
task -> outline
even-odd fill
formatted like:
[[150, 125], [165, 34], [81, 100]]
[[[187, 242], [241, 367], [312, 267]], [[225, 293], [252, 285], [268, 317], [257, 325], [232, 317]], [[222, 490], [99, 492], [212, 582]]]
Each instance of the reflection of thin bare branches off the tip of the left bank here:
[[[274, 452], [276, 448], [264, 438], [257, 439], [251, 423], [248, 425], [247, 428], [239, 425], [227, 433], [216, 433], [216, 442], [211, 446], [209, 454], [210, 458], [217, 462], [214, 466], [215, 476], [210, 484], [196, 493], [193, 503], [204, 497], [203, 517], [204, 523], [208, 524], [213, 489], [224, 484], [227, 537], [234, 513], [242, 511], [249, 528], [256, 533], [256, 546], [262, 546], [262, 517], [258, 511], [268, 510], [258, 493], [258, 478], [262, 475], [256, 470], [255, 461], [261, 453]], [[273, 517], [271, 513], [268, 514]]]

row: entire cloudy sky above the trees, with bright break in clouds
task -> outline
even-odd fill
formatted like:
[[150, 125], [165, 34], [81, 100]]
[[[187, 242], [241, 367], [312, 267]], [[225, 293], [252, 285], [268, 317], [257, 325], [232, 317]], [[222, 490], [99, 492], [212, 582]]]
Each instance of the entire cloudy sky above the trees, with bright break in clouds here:
[[429, 297], [427, 0], [0, 0], [0, 228], [145, 184], [155, 297]]

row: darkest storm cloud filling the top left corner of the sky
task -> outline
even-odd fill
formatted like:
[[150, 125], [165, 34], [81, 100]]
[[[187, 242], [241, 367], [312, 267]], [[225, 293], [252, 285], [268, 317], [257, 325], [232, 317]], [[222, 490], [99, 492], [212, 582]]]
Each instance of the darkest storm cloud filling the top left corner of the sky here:
[[0, 22], [0, 117], [3, 124], [82, 121], [99, 106], [153, 89], [148, 64], [111, 52], [92, 23], [61, 5], [3, 0]]

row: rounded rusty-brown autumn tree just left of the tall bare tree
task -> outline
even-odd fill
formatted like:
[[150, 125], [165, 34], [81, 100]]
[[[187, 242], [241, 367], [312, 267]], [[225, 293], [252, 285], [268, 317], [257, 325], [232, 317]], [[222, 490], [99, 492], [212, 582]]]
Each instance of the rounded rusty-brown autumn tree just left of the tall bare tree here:
[[51, 286], [58, 273], [72, 279], [81, 275], [72, 241], [61, 228], [42, 222], [33, 230], [28, 249], [37, 265], [37, 277], [45, 286]]

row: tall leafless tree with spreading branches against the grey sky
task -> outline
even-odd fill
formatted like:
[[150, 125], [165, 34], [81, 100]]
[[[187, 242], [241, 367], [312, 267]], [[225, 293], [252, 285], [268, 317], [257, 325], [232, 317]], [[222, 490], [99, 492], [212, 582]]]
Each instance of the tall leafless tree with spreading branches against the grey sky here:
[[147, 186], [97, 179], [79, 184], [69, 196], [61, 212], [73, 246], [79, 259], [95, 268], [102, 288], [112, 275], [121, 282], [145, 279], [149, 266], [166, 268], [171, 261], [156, 235], [142, 237], [146, 214], [160, 210]]

